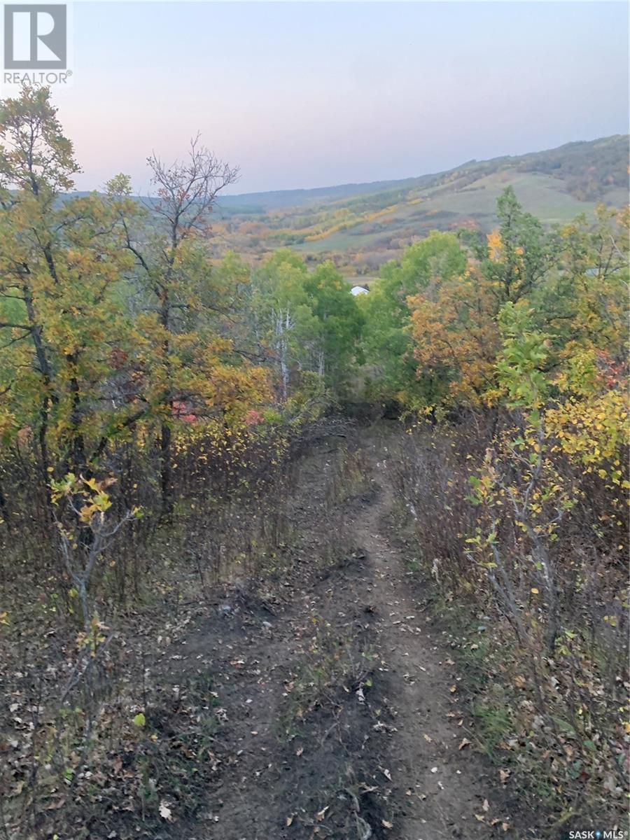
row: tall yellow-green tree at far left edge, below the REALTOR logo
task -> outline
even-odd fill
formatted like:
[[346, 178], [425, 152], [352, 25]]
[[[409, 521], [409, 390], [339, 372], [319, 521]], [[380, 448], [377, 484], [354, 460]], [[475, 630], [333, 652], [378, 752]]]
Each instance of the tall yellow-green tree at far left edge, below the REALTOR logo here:
[[89, 470], [115, 407], [113, 350], [129, 340], [129, 260], [115, 206], [68, 198], [79, 171], [46, 88], [0, 107], [0, 393], [5, 442], [29, 439], [42, 483]]

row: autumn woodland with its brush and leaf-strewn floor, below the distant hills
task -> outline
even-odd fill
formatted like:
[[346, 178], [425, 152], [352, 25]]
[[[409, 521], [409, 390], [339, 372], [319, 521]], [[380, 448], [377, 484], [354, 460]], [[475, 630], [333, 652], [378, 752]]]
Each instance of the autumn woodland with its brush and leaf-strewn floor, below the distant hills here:
[[627, 208], [507, 186], [354, 297], [218, 253], [200, 137], [146, 201], [46, 88], [0, 138], [0, 837], [621, 826]]

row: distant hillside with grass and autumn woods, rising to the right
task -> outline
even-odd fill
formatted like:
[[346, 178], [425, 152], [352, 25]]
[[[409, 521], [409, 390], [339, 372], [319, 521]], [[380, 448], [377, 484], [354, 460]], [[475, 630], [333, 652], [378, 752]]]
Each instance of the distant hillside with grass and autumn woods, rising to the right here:
[[489, 230], [496, 223], [496, 198], [508, 184], [523, 207], [548, 224], [591, 215], [598, 202], [621, 206], [627, 160], [627, 135], [618, 134], [470, 160], [404, 181], [222, 197], [217, 244], [252, 254], [290, 245], [317, 259], [339, 255], [342, 263], [356, 264], [358, 273], [370, 273], [429, 229]]

